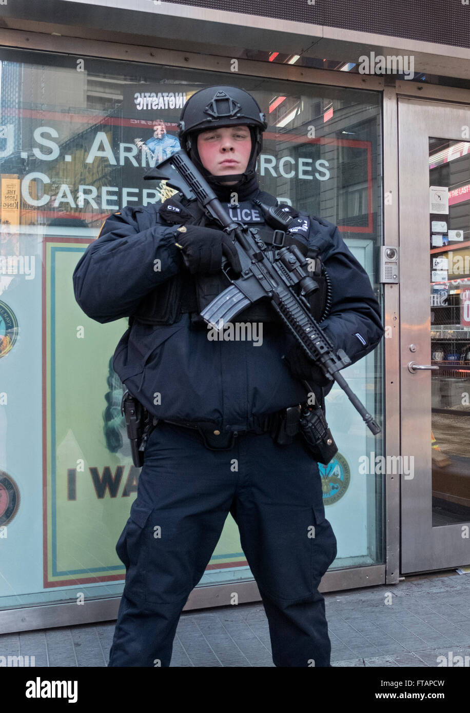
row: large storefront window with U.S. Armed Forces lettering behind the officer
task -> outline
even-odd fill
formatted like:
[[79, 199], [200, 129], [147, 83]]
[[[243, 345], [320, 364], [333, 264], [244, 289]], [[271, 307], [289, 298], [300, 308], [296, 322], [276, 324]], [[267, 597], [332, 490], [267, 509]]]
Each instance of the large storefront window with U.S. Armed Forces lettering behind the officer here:
[[[261, 188], [338, 225], [379, 297], [381, 96], [7, 49], [0, 67], [0, 608], [117, 596], [124, 569], [115, 546], [139, 475], [111, 361], [127, 320], [83, 314], [76, 263], [111, 212], [173, 192], [143, 175], [178, 150], [191, 94], [227, 83], [252, 93], [267, 116]], [[382, 347], [344, 376], [380, 418]], [[382, 436], [371, 436], [337, 388], [327, 419], [339, 447], [321, 467], [338, 540], [332, 566], [380, 563], [383, 476], [373, 458]], [[200, 584], [250, 578], [229, 515]]]

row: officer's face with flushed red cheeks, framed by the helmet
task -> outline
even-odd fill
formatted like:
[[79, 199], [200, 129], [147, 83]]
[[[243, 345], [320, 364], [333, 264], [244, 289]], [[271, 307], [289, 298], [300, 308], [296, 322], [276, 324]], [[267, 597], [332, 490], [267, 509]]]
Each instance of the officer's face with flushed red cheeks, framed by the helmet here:
[[[201, 163], [213, 176], [243, 173], [250, 160], [251, 134], [247, 126], [224, 126], [198, 135]], [[233, 185], [236, 181], [228, 183]]]

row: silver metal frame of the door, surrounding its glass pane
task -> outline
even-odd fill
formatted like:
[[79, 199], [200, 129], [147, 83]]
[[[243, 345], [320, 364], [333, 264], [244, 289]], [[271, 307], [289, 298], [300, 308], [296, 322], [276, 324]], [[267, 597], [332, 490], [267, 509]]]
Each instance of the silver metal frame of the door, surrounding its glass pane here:
[[[450, 569], [470, 562], [462, 525], [432, 527], [431, 373], [410, 373], [408, 364], [430, 364], [429, 136], [466, 140], [470, 92], [452, 92], [452, 103], [398, 96], [400, 225], [401, 451], [414, 457], [414, 477], [401, 476], [403, 573]], [[459, 103], [457, 103], [459, 101]], [[426, 260], [422, 260], [422, 256]], [[416, 352], [409, 345], [414, 344]], [[468, 560], [468, 561], [465, 561]]]

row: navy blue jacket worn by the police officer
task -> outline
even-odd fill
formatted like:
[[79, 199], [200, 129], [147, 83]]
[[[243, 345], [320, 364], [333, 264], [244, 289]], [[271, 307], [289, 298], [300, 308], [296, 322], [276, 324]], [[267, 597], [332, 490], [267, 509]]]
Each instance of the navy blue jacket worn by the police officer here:
[[[251, 200], [257, 195], [259, 189]], [[257, 206], [250, 201], [243, 205], [240, 217], [253, 222], [246, 220], [246, 205], [252, 206], [252, 215], [259, 213]], [[175, 246], [178, 225], [166, 222], [158, 207], [128, 206], [108, 217], [98, 239], [78, 261], [73, 272], [75, 296], [91, 319], [106, 324], [130, 317], [145, 295], [185, 270]], [[300, 217], [295, 235], [306, 245], [319, 247], [332, 281], [332, 309], [321, 326], [354, 363], [382, 338], [379, 304], [369, 277], [337, 227], [305, 213]], [[161, 261], [160, 270], [154, 270], [155, 259]], [[295, 338], [282, 324], [263, 326], [262, 344], [255, 346], [249, 341], [210, 341], [207, 330], [190, 329], [188, 314], [166, 326], [134, 319], [116, 347], [113, 367], [131, 394], [160, 419], [210, 421], [220, 430], [249, 430], [257, 417], [305, 401], [301, 381], [282, 360]], [[321, 387], [312, 386], [321, 396]]]

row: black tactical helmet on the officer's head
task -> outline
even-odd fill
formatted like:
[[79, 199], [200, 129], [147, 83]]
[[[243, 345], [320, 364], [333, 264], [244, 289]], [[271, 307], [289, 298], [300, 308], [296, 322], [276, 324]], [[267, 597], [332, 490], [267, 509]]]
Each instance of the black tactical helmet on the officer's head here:
[[[262, 113], [257, 101], [243, 89], [230, 86], [212, 86], [195, 92], [183, 107], [178, 123], [180, 132], [178, 138], [181, 147], [198, 165], [201, 173], [211, 183], [228, 183], [239, 181], [246, 183], [255, 176], [256, 159], [261, 153], [262, 132], [267, 128], [265, 114]], [[200, 162], [196, 137], [200, 131], [215, 126], [239, 126], [250, 128], [252, 148], [250, 160], [245, 173], [213, 176]]]

